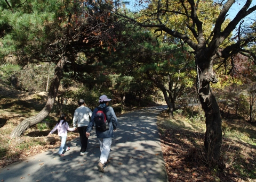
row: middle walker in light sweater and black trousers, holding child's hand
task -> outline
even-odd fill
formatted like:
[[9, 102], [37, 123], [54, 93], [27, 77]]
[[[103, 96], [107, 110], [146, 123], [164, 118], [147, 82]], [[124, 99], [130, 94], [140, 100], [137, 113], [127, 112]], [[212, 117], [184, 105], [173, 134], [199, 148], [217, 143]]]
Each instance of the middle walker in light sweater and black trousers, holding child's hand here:
[[78, 101], [79, 107], [75, 110], [74, 117], [73, 117], [73, 126], [74, 128], [77, 126], [80, 141], [81, 141], [81, 150], [80, 155], [87, 154], [87, 142], [88, 137], [86, 136], [85, 132], [87, 126], [90, 122], [90, 117], [92, 116], [92, 111], [90, 108], [85, 107], [85, 102], [83, 99], [79, 99]]

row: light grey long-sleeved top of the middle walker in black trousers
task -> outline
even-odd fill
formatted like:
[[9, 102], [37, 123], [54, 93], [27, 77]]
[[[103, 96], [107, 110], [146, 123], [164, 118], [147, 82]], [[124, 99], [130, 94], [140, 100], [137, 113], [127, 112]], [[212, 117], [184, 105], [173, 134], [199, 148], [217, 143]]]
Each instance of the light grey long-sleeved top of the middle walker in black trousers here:
[[90, 108], [87, 108], [85, 106], [78, 107], [74, 113], [73, 126], [88, 126], [90, 122], [90, 117], [92, 117], [92, 111]]

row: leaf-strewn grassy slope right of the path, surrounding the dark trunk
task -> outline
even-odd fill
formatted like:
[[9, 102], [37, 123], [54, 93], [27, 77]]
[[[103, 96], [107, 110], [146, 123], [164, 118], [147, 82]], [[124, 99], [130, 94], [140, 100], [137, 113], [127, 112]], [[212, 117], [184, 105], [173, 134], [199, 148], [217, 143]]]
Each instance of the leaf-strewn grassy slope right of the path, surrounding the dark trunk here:
[[255, 126], [223, 124], [221, 160], [213, 166], [205, 157], [205, 124], [175, 118], [163, 112], [157, 122], [169, 181], [256, 181]]

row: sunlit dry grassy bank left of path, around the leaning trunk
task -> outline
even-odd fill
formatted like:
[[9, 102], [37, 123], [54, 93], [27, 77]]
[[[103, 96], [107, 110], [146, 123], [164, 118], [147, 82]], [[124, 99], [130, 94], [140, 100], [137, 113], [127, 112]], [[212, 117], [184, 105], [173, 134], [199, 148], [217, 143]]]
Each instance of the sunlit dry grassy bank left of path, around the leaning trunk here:
[[[44, 107], [46, 99], [46, 92], [21, 92], [0, 85], [0, 168], [60, 145], [57, 134], [53, 135], [57, 139], [54, 144], [46, 144], [44, 138], [50, 128], [39, 131], [36, 126], [29, 128], [24, 136], [18, 139], [10, 138], [14, 127], [23, 119], [38, 113]], [[58, 119], [53, 114], [49, 117]], [[78, 135], [68, 133], [67, 141]]]

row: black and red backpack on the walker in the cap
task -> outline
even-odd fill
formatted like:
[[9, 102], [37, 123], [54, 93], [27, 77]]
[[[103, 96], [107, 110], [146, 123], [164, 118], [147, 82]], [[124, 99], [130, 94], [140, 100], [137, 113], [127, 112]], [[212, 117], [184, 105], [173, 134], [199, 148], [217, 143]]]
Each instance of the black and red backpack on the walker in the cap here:
[[97, 107], [98, 111], [95, 114], [94, 122], [95, 129], [100, 132], [105, 132], [109, 129], [109, 123], [107, 120], [106, 108]]

